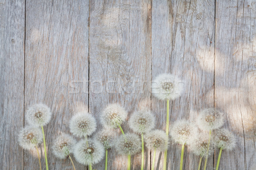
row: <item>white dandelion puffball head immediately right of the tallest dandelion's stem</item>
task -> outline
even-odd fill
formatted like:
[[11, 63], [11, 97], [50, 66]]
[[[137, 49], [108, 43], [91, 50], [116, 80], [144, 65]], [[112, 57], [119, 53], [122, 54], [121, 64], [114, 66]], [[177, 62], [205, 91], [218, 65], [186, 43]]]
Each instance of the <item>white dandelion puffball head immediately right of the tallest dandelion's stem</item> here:
[[174, 122], [170, 135], [175, 143], [190, 145], [198, 136], [198, 128], [192, 122], [178, 120]]

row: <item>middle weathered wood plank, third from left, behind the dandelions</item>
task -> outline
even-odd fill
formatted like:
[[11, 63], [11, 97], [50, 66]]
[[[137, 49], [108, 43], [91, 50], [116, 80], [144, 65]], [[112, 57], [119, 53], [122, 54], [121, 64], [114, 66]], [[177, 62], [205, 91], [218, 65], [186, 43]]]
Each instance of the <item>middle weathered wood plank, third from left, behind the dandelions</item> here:
[[[89, 109], [96, 119], [112, 102], [119, 102], [129, 115], [140, 107], [150, 107], [151, 1], [91, 1], [89, 46]], [[126, 122], [122, 127], [125, 133], [131, 131]], [[132, 169], [140, 169], [140, 159], [140, 154], [132, 156]], [[104, 163], [96, 169], [103, 169]], [[145, 169], [149, 164], [148, 154]], [[127, 156], [111, 150], [108, 169], [126, 170]]]

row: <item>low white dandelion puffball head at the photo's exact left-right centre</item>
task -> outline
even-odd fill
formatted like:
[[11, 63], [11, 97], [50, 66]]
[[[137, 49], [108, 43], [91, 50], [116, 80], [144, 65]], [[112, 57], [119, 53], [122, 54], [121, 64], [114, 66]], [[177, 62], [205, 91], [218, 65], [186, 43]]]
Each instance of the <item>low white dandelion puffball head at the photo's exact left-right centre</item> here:
[[115, 147], [120, 155], [134, 155], [141, 150], [140, 137], [133, 133], [121, 135], [116, 140]]

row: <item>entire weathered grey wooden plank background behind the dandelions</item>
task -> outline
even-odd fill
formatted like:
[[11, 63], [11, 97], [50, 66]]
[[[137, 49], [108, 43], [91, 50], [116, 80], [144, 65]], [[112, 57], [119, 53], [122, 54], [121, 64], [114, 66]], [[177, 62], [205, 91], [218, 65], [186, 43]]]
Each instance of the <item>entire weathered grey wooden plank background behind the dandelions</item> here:
[[[255, 0], [0, 0], [0, 11], [4, 170], [39, 169], [35, 150], [17, 144], [24, 111], [38, 102], [53, 113], [45, 127], [50, 170], [72, 169], [50, 147], [69, 132], [75, 105], [84, 105], [98, 122], [108, 103], [119, 102], [129, 114], [148, 107], [164, 130], [166, 104], [151, 95], [150, 83], [164, 72], [185, 82], [185, 93], [170, 102], [170, 124], [195, 120], [202, 108], [219, 109], [237, 139], [236, 150], [223, 152], [220, 170], [256, 170]], [[123, 127], [129, 131], [127, 123]], [[146, 170], [153, 153], [145, 155]], [[217, 156], [215, 149], [207, 170]], [[157, 153], [157, 170], [162, 160]], [[133, 170], [140, 169], [140, 154], [131, 161]], [[185, 149], [184, 170], [197, 169], [198, 161]], [[178, 170], [179, 163], [180, 146], [171, 145], [168, 170]], [[104, 160], [93, 167], [103, 166]], [[126, 166], [126, 157], [109, 152], [109, 170]]]

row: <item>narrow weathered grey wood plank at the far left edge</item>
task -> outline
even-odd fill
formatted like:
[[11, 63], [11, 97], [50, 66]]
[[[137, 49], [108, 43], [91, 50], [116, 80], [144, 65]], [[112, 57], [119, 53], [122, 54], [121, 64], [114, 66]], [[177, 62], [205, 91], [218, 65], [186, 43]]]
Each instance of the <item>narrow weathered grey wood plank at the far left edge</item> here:
[[23, 169], [23, 149], [17, 134], [24, 113], [24, 0], [0, 1], [0, 165]]

